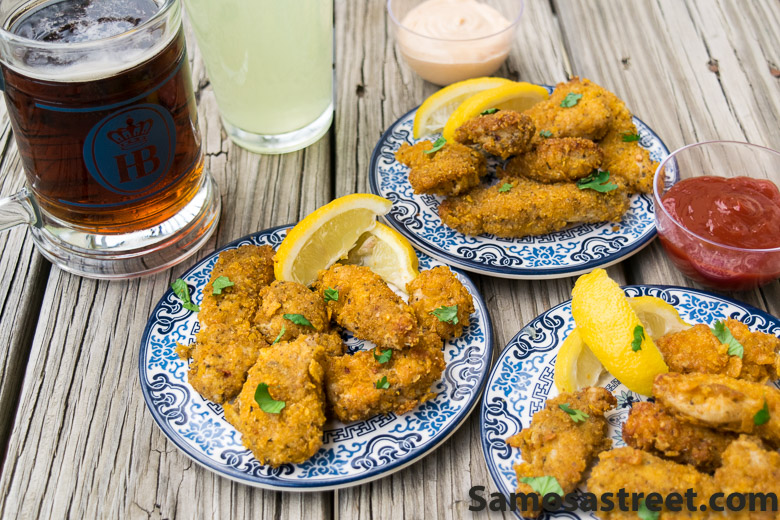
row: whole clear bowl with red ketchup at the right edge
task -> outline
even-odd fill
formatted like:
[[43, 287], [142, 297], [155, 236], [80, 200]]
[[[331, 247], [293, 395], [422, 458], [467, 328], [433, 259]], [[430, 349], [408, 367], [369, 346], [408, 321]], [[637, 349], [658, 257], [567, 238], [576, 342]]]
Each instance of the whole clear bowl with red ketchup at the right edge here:
[[734, 141], [685, 146], [658, 166], [654, 200], [661, 244], [688, 278], [745, 291], [780, 277], [780, 153]]

